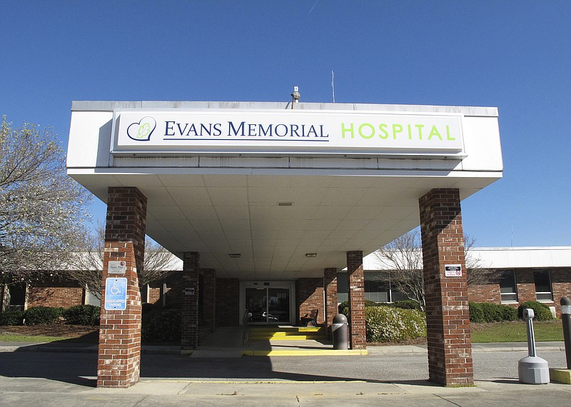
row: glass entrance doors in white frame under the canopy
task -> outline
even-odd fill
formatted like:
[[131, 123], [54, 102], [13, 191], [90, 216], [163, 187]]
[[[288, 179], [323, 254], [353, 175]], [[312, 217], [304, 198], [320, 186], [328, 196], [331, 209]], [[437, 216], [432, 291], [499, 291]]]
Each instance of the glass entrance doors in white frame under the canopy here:
[[249, 323], [257, 325], [290, 324], [292, 304], [290, 282], [243, 283], [243, 309], [251, 313]]

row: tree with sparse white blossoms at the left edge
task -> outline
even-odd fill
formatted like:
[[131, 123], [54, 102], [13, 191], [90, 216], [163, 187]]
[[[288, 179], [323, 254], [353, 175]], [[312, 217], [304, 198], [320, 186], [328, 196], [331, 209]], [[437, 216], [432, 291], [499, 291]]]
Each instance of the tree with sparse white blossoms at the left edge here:
[[66, 174], [51, 128], [0, 129], [0, 283], [21, 283], [62, 270], [86, 236], [91, 195]]

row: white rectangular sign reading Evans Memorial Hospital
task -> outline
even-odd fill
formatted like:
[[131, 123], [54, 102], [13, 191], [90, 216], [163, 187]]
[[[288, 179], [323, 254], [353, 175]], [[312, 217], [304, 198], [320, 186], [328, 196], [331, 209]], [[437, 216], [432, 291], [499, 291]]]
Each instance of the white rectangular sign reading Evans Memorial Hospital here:
[[462, 115], [375, 111], [114, 111], [112, 152], [465, 156]]

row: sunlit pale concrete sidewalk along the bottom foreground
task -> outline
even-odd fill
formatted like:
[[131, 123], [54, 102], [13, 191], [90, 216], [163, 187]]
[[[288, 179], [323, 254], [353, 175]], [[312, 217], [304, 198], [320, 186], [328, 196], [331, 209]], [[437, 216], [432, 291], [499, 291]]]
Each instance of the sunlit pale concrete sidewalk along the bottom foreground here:
[[410, 383], [141, 381], [126, 389], [90, 388], [42, 378], [0, 377], [0, 404], [61, 406], [565, 406], [571, 386], [515, 380], [444, 388]]

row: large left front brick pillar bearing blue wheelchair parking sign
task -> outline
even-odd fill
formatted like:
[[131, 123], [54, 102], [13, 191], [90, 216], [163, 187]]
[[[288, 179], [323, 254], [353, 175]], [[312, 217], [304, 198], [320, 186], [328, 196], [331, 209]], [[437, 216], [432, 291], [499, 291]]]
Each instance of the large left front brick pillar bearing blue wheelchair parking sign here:
[[[146, 197], [136, 188], [109, 188], [101, 283], [98, 387], [126, 388], [138, 382], [141, 294], [137, 273], [143, 268], [145, 226]], [[123, 262], [119, 273], [108, 273], [109, 261]], [[108, 278], [113, 286], [108, 287]], [[122, 286], [123, 278], [126, 278], [126, 287]], [[121, 294], [123, 288], [126, 288], [126, 297], [124, 292]], [[106, 293], [115, 294], [113, 298], [118, 301], [111, 302], [111, 298], [106, 301]]]

